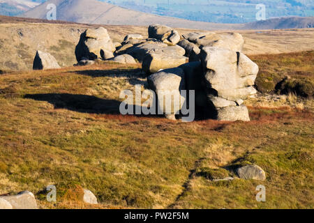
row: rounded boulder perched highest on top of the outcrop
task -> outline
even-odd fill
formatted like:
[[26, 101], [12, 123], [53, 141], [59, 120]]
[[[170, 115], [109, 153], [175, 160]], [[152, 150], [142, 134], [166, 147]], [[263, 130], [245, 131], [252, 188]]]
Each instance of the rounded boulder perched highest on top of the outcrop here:
[[177, 45], [180, 41], [178, 31], [170, 28], [169, 26], [163, 26], [160, 24], [151, 25], [149, 26], [148, 32], [149, 38], [156, 38], [167, 45]]

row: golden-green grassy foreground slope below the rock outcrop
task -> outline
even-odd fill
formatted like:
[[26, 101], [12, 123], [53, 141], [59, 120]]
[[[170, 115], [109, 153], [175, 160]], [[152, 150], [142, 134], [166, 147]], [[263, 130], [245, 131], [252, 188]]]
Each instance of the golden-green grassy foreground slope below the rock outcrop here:
[[[0, 193], [57, 185], [55, 205], [36, 196], [42, 208], [313, 208], [312, 112], [250, 107], [251, 123], [121, 116], [119, 92], [145, 82], [139, 67], [1, 75]], [[198, 174], [239, 162], [267, 180]], [[266, 203], [255, 201], [261, 183]], [[102, 204], [78, 202], [77, 185]]]

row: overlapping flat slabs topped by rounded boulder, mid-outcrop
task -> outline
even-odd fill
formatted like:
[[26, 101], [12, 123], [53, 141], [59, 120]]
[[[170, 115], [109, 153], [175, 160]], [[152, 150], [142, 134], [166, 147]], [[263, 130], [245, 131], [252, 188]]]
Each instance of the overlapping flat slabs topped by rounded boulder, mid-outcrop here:
[[178, 31], [156, 24], [149, 26], [148, 33], [147, 39], [140, 34], [126, 36], [114, 54], [133, 56], [142, 63], [142, 68], [148, 75], [188, 62], [188, 57], [184, 56], [186, 50], [177, 45], [181, 39]]

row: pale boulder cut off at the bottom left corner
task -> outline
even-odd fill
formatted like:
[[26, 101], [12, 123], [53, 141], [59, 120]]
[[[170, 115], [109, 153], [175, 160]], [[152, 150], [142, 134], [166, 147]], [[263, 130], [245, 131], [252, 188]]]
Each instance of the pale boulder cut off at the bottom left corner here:
[[13, 209], [38, 209], [35, 196], [29, 191], [20, 192], [13, 196], [2, 196], [0, 199], [8, 201]]

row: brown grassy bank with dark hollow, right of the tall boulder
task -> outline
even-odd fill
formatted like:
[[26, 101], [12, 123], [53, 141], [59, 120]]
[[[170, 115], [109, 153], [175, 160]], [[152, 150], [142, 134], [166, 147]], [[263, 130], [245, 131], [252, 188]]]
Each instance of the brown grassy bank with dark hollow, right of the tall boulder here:
[[251, 59], [260, 67], [256, 86], [262, 93], [295, 93], [313, 98], [314, 51], [255, 55]]

